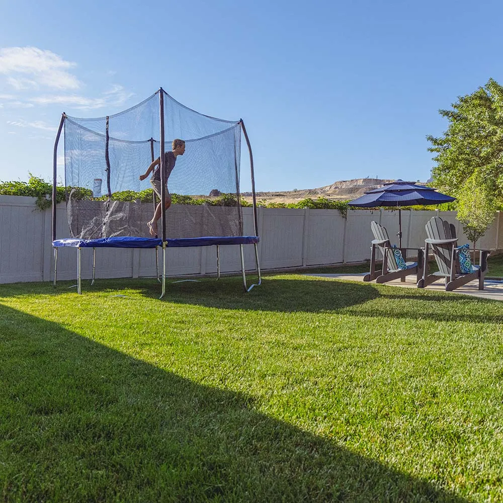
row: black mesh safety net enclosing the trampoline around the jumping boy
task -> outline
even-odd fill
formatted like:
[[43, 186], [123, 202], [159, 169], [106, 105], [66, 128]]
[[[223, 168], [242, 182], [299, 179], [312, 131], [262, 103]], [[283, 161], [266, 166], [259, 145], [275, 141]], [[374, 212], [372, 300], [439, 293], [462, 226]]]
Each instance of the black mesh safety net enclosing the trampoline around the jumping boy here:
[[[186, 143], [167, 181], [175, 204], [165, 213], [166, 237], [242, 235], [240, 122], [199, 114], [158, 91], [116, 115], [65, 118], [65, 187], [72, 237], [150, 237], [147, 222], [158, 201], [150, 176], [143, 181], [139, 176], [160, 155], [159, 92], [164, 150], [171, 150], [176, 138]], [[219, 205], [208, 196], [219, 196]], [[201, 199], [206, 202], [193, 204]], [[160, 236], [160, 220], [158, 229]]]

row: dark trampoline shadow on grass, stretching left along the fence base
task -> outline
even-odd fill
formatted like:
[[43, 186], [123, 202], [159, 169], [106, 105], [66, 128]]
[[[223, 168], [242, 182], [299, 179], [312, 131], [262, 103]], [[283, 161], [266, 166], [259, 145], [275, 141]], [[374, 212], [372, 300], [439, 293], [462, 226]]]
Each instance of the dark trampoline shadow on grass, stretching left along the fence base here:
[[[257, 280], [255, 278], [249, 278]], [[251, 285], [251, 281], [248, 281]], [[59, 282], [56, 290], [49, 283], [16, 283], [3, 285], [0, 298], [34, 294], [75, 294], [72, 282]], [[120, 295], [129, 291], [158, 299], [161, 285], [155, 279], [97, 280], [94, 286], [82, 282], [82, 294], [100, 293]], [[205, 278], [201, 281], [181, 282], [166, 280], [166, 293], [160, 302], [202, 305], [222, 309], [253, 309], [280, 312], [333, 311], [379, 297], [379, 292], [368, 285], [327, 281], [292, 280], [281, 276], [263, 278], [261, 286], [244, 292], [241, 277], [224, 277], [220, 280]]]

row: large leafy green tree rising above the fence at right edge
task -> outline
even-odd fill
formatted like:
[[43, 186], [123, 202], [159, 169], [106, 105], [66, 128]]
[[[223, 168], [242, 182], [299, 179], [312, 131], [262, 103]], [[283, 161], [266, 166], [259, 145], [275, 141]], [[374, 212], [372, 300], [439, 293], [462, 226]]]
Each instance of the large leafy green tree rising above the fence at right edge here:
[[482, 189], [494, 207], [503, 206], [503, 87], [491, 78], [474, 93], [459, 97], [452, 110], [439, 113], [449, 127], [441, 137], [427, 136], [433, 145], [429, 150], [436, 153], [435, 187], [466, 199], [465, 186], [473, 177], [472, 187]]

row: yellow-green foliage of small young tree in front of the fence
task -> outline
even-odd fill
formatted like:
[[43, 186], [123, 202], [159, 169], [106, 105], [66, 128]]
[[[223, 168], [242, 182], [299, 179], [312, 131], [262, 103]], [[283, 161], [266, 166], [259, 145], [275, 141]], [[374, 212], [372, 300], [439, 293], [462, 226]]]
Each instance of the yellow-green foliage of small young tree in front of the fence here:
[[477, 180], [477, 172], [469, 177], [458, 195], [457, 219], [463, 224], [468, 239], [475, 243], [485, 234], [494, 220], [494, 198], [487, 194], [482, 183]]

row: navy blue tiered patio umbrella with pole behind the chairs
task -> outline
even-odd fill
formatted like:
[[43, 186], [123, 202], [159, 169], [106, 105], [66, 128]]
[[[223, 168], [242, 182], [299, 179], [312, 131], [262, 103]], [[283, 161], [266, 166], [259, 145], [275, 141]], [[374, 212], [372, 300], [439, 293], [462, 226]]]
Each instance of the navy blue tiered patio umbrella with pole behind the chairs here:
[[455, 197], [447, 196], [437, 192], [432, 187], [425, 185], [417, 185], [414, 182], [403, 182], [396, 180], [384, 184], [379, 187], [366, 192], [363, 196], [354, 199], [348, 203], [349, 206], [357, 208], [376, 208], [378, 206], [394, 206], [398, 208], [398, 240], [399, 246], [402, 245], [402, 219], [400, 206], [412, 206], [414, 204], [441, 204], [450, 203], [455, 201]]

